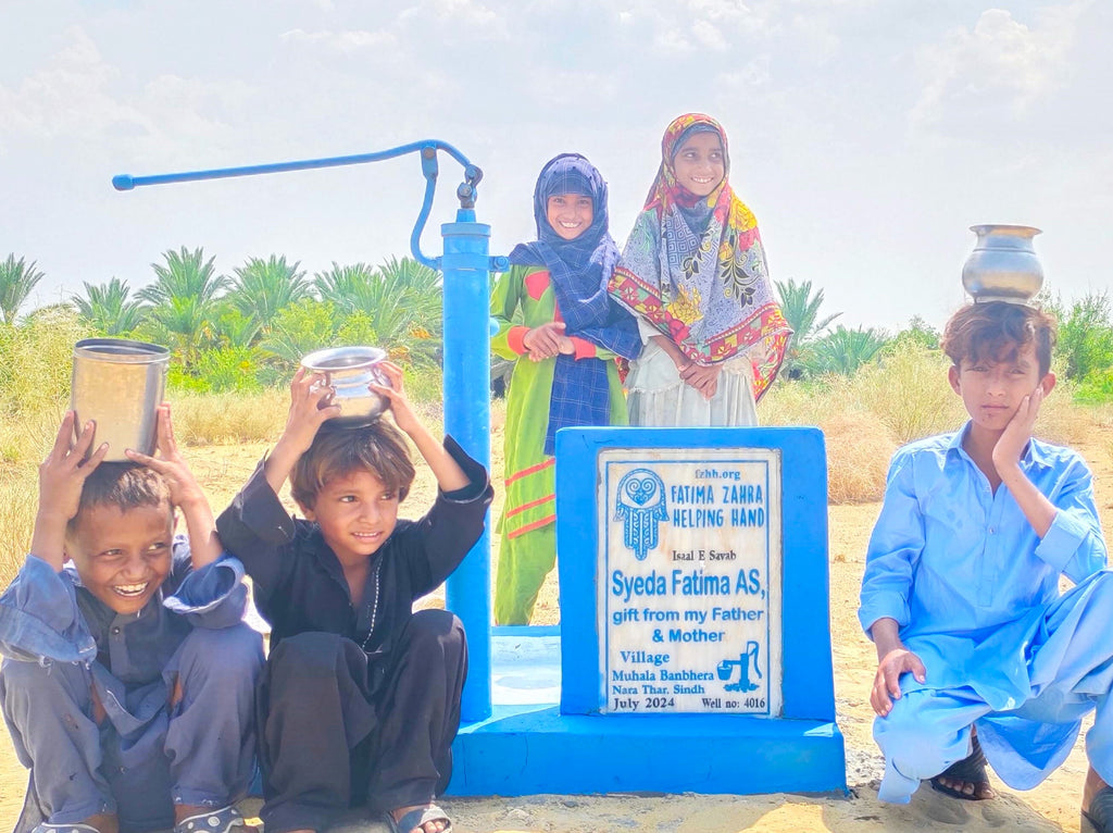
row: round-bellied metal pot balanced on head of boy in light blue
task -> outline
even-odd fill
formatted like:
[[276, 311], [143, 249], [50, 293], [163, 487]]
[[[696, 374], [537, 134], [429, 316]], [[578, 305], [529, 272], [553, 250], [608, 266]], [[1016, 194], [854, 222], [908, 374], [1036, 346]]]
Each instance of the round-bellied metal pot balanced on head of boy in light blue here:
[[1032, 246], [1040, 229], [983, 225], [971, 226], [971, 231], [977, 242], [963, 265], [963, 287], [974, 302], [1030, 302], [1043, 286], [1043, 266]]

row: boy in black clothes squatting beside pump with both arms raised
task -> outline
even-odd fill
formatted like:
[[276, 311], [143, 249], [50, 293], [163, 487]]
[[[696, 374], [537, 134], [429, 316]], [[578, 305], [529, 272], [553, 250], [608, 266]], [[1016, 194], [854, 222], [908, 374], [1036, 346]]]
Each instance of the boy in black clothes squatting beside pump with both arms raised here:
[[[257, 700], [267, 833], [321, 831], [364, 805], [394, 831], [451, 830], [434, 798], [452, 774], [466, 644], [451, 612], [412, 606], [479, 539], [492, 490], [417, 420], [402, 370], [380, 366], [392, 388], [373, 390], [440, 487], [424, 518], [397, 519], [414, 478], [405, 439], [385, 418], [327, 422], [339, 409], [319, 408], [323, 375], [298, 371], [282, 437], [217, 520], [273, 628]], [[287, 478], [306, 520], [278, 500]]]

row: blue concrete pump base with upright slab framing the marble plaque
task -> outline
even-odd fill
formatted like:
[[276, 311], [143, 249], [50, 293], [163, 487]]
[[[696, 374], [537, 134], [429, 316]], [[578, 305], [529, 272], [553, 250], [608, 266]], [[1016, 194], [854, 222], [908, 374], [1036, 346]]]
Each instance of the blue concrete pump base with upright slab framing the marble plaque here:
[[[777, 714], [600, 714], [607, 710], [600, 686], [607, 623], [598, 612], [601, 523], [594, 474], [599, 454], [611, 448], [639, 454], [678, 448], [778, 451], [782, 558], [770, 579], [780, 594], [784, 634]], [[823, 434], [564, 429], [556, 450], [559, 636], [555, 628], [492, 633], [489, 617], [477, 621], [482, 630], [474, 633], [492, 633], [490, 665], [476, 661], [472, 672], [490, 670], [492, 710], [461, 726], [450, 794], [845, 793], [845, 748], [835, 723]]]

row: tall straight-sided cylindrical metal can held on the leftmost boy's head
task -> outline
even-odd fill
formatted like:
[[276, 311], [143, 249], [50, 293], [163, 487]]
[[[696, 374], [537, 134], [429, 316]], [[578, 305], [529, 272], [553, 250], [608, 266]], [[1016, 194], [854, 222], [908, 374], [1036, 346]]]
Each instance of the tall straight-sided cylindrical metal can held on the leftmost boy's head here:
[[80, 432], [97, 423], [92, 449], [108, 443], [106, 460], [127, 460], [125, 449], [155, 453], [158, 406], [166, 392], [170, 351], [127, 339], [85, 339], [73, 345], [70, 408]]

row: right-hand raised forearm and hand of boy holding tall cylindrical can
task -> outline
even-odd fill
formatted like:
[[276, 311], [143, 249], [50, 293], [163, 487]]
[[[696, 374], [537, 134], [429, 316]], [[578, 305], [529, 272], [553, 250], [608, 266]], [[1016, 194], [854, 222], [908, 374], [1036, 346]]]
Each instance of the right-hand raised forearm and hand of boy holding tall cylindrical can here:
[[224, 552], [224, 547], [216, 532], [216, 520], [208, 498], [205, 497], [200, 483], [178, 451], [178, 443], [174, 439], [174, 423], [170, 420], [170, 405], [167, 402], [158, 406], [156, 432], [158, 457], [140, 454], [131, 449], [126, 449], [124, 453], [129, 460], [147, 465], [162, 476], [170, 490], [170, 503], [181, 511], [181, 517], [186, 521], [189, 557], [194, 562], [194, 569], [199, 570], [216, 561]]

